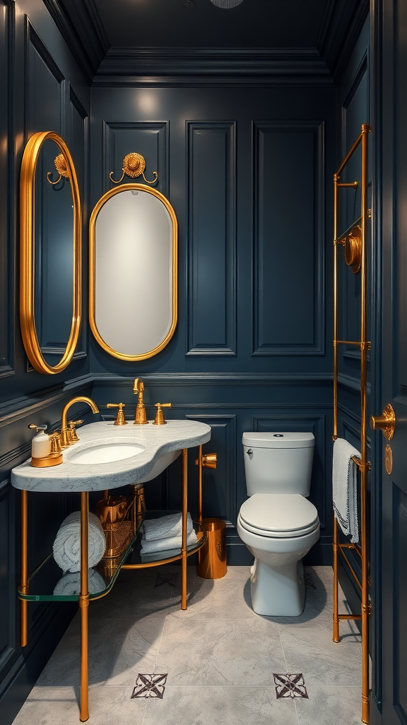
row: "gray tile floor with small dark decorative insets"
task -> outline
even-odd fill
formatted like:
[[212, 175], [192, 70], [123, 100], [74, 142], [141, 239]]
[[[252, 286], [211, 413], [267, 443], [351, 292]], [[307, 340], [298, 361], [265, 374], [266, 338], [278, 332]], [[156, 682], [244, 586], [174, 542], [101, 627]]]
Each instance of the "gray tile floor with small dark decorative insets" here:
[[[330, 567], [306, 569], [306, 608], [295, 618], [253, 612], [248, 567], [215, 581], [188, 568], [185, 612], [179, 581], [177, 566], [122, 571], [91, 603], [91, 725], [360, 723], [360, 637], [344, 622], [332, 642]], [[302, 674], [308, 698], [277, 699], [274, 674]], [[151, 675], [156, 685], [145, 684]], [[78, 682], [76, 616], [14, 725], [77, 725]]]

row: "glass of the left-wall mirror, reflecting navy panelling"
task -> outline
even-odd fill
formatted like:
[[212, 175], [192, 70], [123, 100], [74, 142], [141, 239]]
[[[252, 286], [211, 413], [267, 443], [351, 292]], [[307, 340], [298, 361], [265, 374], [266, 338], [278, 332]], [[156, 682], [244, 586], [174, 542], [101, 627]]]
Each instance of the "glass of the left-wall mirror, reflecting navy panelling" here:
[[54, 159], [59, 154], [55, 142], [46, 139], [35, 172], [34, 321], [41, 353], [50, 365], [62, 357], [73, 313], [72, 188], [64, 176], [57, 181]]

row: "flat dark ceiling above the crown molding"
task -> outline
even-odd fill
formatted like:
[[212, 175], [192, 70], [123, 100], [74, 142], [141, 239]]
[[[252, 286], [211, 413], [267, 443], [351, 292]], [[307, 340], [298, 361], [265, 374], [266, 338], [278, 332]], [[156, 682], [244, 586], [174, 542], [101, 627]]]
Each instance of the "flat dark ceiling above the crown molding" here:
[[149, 48], [316, 48], [333, 0], [96, 0], [109, 46]]

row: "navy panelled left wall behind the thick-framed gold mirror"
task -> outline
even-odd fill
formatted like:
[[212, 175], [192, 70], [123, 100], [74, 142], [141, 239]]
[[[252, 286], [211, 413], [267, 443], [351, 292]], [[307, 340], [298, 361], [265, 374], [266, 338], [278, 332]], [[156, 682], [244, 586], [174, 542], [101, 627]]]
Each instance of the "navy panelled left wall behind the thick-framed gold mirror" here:
[[[42, 0], [0, 0], [0, 99], [0, 721], [9, 724], [72, 616], [70, 605], [30, 605], [28, 647], [20, 647], [20, 497], [10, 471], [30, 455], [28, 423], [56, 426], [64, 402], [91, 393], [86, 325], [70, 368], [53, 377], [31, 368], [20, 336], [19, 182], [29, 136], [45, 130], [62, 135], [81, 198], [88, 193], [89, 88]], [[58, 224], [51, 231], [56, 256], [61, 232]], [[58, 335], [52, 342], [62, 347]], [[49, 555], [72, 506], [79, 502], [65, 496], [30, 497], [30, 571]]]

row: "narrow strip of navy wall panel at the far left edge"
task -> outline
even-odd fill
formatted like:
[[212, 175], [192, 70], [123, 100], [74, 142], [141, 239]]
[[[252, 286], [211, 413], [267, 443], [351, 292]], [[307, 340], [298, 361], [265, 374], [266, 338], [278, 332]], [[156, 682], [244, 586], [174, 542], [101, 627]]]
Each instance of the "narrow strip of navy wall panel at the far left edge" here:
[[0, 1], [0, 378], [14, 375], [15, 5]]

